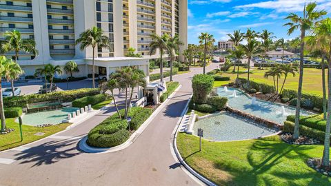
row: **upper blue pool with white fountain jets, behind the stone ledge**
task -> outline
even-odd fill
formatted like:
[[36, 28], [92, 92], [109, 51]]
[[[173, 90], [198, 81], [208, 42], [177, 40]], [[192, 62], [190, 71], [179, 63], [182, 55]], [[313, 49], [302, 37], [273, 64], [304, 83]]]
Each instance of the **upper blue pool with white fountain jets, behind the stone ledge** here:
[[[237, 96], [234, 96], [234, 92], [236, 92]], [[228, 97], [228, 105], [236, 110], [241, 110], [243, 112], [247, 112], [248, 114], [280, 123], [281, 125], [283, 125], [283, 122], [286, 120], [288, 115], [295, 114], [294, 107], [259, 99], [252, 101], [252, 98], [235, 88], [228, 88], [228, 91], [226, 91], [224, 87], [219, 87], [217, 88], [217, 94], [219, 94], [219, 96]], [[307, 116], [310, 114], [310, 112], [301, 110], [302, 116]]]

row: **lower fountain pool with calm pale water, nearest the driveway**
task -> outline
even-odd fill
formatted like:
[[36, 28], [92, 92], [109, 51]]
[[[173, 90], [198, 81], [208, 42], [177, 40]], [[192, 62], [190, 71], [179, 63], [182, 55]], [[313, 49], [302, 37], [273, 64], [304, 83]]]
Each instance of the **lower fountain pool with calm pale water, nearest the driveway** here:
[[193, 131], [203, 130], [203, 138], [211, 141], [236, 141], [268, 136], [277, 131], [228, 112], [202, 118], [194, 123]]

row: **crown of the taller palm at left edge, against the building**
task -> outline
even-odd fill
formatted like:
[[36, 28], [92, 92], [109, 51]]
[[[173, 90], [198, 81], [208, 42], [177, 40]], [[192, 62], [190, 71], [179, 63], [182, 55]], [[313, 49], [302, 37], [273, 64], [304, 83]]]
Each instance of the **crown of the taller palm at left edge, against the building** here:
[[34, 39], [22, 39], [21, 32], [17, 30], [6, 31], [3, 36], [5, 37], [5, 41], [4, 44], [1, 45], [1, 50], [3, 50], [3, 52], [14, 52], [15, 63], [17, 63], [17, 59], [19, 58], [19, 52], [21, 51], [32, 53], [34, 54], [34, 56], [38, 54]]

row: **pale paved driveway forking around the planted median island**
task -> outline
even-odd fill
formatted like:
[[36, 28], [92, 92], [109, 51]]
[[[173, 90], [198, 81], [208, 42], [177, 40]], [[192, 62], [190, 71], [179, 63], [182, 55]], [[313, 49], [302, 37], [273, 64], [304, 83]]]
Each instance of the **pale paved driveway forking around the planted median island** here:
[[[212, 64], [208, 70], [216, 65]], [[87, 154], [77, 143], [114, 108], [71, 130], [27, 148], [0, 153], [0, 185], [197, 185], [172, 156], [172, 131], [192, 94], [191, 79], [202, 68], [174, 76], [183, 87], [130, 147]]]

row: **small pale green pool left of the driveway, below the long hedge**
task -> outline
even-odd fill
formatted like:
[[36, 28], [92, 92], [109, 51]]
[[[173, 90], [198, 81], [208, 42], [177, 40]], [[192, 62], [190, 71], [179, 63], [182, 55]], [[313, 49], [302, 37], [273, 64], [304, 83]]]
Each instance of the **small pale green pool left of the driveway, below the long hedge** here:
[[68, 118], [68, 114], [79, 110], [76, 107], [63, 107], [61, 110], [49, 110], [45, 112], [36, 112], [31, 114], [25, 114], [23, 116], [24, 125], [43, 125], [52, 124], [57, 125], [62, 123], [63, 120]]

